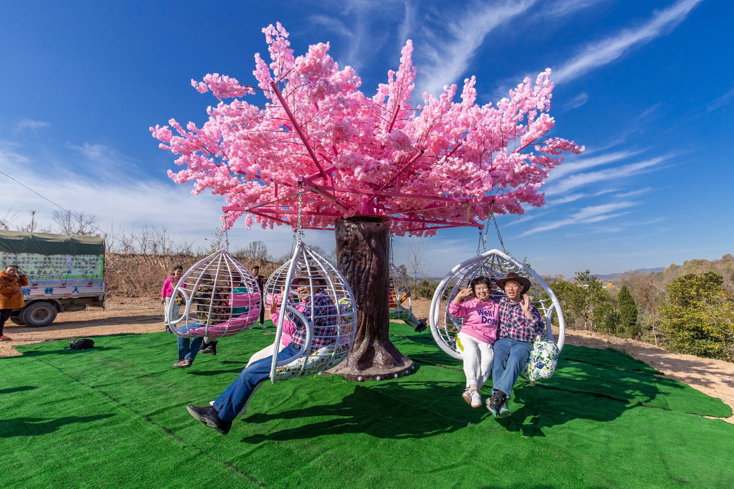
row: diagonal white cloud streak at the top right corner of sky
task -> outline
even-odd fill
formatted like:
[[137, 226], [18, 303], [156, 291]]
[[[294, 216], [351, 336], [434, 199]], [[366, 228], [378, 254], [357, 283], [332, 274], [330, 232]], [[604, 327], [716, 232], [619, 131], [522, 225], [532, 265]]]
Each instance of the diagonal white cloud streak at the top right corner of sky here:
[[611, 37], [589, 43], [559, 69], [553, 70], [553, 81], [562, 83], [578, 78], [597, 67], [608, 65], [634, 46], [649, 43], [672, 31], [701, 1], [679, 0], [665, 10], [655, 12], [642, 26], [624, 29]]

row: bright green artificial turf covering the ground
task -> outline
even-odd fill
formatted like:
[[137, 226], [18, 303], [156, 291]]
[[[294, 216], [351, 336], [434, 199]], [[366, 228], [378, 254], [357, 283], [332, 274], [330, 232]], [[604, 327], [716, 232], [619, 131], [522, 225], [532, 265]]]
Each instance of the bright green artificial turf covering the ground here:
[[517, 383], [512, 416], [494, 419], [462, 400], [461, 364], [429, 334], [391, 332], [410, 375], [266, 384], [226, 436], [184, 406], [214, 400], [272, 342], [264, 330], [223, 339], [190, 369], [171, 368], [165, 333], [22, 346], [0, 359], [0, 487], [734, 486], [734, 425], [700, 416], [730, 408], [624, 353], [567, 345], [556, 375]]

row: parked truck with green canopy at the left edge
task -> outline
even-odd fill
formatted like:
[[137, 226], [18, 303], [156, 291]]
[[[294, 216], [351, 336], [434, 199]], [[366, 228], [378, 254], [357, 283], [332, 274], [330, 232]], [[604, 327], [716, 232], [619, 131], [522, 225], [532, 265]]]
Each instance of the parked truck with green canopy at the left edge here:
[[48, 326], [59, 312], [104, 307], [104, 239], [98, 236], [0, 231], [0, 266], [28, 277], [26, 305], [10, 313], [25, 326]]

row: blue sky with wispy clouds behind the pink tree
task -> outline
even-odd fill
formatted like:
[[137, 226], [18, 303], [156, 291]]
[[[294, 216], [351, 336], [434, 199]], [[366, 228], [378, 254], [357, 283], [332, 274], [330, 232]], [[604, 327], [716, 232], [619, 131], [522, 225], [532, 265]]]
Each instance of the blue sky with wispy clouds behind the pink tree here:
[[[206, 119], [206, 73], [252, 80], [261, 28], [280, 21], [296, 54], [330, 41], [370, 94], [415, 45], [416, 84], [437, 93], [477, 77], [496, 102], [553, 69], [554, 133], [586, 145], [551, 172], [547, 205], [499, 220], [504, 243], [540, 273], [613, 273], [734, 251], [732, 2], [431, 1], [15, 2], [0, 18], [0, 170], [103, 224], [168, 224], [203, 243], [222, 200], [166, 177], [170, 152], [148, 127]], [[56, 208], [0, 175], [0, 217]], [[282, 253], [283, 227], [265, 240]], [[308, 241], [333, 248], [333, 235]], [[409, 238], [396, 239], [400, 262]], [[426, 273], [476, 252], [476, 229], [426, 238]], [[488, 246], [498, 247], [490, 233]]]

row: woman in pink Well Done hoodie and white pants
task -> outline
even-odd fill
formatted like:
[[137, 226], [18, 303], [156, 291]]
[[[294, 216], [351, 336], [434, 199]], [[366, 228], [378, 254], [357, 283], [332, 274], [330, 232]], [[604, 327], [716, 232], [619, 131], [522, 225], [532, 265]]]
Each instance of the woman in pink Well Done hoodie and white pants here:
[[479, 276], [448, 304], [448, 314], [464, 318], [457, 343], [462, 350], [466, 375], [466, 390], [462, 397], [472, 408], [482, 405], [479, 389], [492, 373], [493, 345], [499, 323], [499, 304], [492, 300], [493, 292], [490, 279]]

